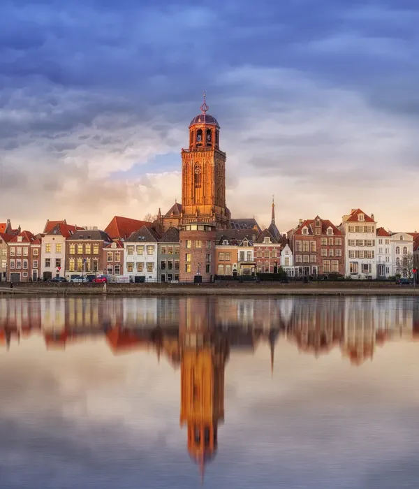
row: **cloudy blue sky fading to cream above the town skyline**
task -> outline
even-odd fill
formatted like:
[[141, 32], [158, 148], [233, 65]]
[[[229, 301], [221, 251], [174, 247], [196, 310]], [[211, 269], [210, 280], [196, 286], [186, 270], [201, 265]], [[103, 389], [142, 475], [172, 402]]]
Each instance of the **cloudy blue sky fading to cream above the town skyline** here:
[[416, 231], [416, 0], [3, 0], [0, 221], [104, 228], [181, 200], [203, 89], [233, 217]]

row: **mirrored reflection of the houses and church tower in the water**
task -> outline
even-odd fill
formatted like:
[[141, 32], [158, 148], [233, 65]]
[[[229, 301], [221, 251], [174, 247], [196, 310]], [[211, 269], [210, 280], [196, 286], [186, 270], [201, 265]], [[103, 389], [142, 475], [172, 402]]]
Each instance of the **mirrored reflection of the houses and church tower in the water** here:
[[180, 425], [203, 477], [224, 421], [224, 373], [230, 353], [270, 351], [279, 339], [318, 357], [340, 351], [352, 365], [389, 342], [419, 337], [414, 298], [0, 298], [0, 342], [13, 349], [31, 335], [45, 348], [102, 339], [115, 355], [152, 352], [180, 370]]

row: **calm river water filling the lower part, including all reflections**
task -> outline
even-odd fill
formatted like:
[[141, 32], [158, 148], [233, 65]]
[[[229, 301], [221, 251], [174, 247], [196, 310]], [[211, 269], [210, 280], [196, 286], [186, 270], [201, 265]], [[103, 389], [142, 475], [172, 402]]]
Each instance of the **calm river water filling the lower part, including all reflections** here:
[[416, 298], [0, 298], [0, 487], [418, 488]]

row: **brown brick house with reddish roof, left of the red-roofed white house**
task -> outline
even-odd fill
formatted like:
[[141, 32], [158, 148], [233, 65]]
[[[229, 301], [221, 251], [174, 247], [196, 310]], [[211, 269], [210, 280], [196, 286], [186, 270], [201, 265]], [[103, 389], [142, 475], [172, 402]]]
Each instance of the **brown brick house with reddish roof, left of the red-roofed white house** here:
[[8, 242], [8, 279], [10, 282], [38, 280], [41, 270], [41, 240], [22, 231]]

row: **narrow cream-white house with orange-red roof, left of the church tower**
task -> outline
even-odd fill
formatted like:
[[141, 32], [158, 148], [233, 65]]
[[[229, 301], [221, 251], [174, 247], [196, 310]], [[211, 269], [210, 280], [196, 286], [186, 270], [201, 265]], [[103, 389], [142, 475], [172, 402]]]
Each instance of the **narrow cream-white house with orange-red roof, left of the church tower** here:
[[66, 276], [66, 239], [75, 230], [75, 226], [66, 224], [66, 221], [47, 221], [42, 238], [41, 278]]

